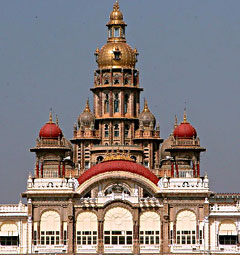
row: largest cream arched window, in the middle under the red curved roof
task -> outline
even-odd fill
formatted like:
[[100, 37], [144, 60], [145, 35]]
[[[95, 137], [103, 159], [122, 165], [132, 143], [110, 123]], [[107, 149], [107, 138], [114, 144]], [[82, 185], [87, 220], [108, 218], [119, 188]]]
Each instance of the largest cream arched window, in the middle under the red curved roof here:
[[110, 209], [104, 218], [105, 245], [132, 245], [133, 243], [132, 214], [125, 208]]

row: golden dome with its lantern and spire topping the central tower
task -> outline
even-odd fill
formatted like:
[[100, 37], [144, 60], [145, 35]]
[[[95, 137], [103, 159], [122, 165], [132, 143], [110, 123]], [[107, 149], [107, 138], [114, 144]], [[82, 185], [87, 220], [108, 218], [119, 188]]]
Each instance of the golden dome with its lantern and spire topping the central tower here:
[[134, 68], [137, 62], [138, 52], [132, 49], [125, 39], [125, 27], [123, 14], [119, 9], [119, 3], [113, 6], [110, 20], [107, 23], [108, 40], [101, 50], [97, 48], [95, 55], [100, 69], [108, 68]]

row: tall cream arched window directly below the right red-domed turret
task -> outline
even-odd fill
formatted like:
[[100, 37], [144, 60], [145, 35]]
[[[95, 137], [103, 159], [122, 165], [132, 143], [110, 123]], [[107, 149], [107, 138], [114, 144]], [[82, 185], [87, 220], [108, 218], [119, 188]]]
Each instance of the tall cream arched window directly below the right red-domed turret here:
[[196, 244], [196, 215], [188, 210], [177, 215], [177, 244]]

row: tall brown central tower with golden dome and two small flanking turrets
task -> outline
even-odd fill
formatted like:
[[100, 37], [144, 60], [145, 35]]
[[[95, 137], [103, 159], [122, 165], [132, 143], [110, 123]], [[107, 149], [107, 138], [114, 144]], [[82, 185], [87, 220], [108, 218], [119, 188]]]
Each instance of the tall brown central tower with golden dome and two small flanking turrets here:
[[79, 174], [109, 153], [129, 153], [155, 173], [159, 169], [160, 130], [147, 101], [140, 112], [138, 52], [126, 42], [126, 26], [116, 2], [107, 23], [107, 43], [95, 51], [93, 111], [87, 101], [71, 140]]

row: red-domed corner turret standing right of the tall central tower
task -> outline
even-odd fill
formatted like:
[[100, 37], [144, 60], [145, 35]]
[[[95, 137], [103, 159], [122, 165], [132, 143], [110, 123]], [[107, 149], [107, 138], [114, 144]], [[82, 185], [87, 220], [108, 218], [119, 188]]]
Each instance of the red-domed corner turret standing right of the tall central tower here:
[[161, 172], [169, 177], [200, 177], [200, 153], [205, 150], [184, 111], [183, 121], [178, 125], [175, 120], [173, 133], [162, 144]]

